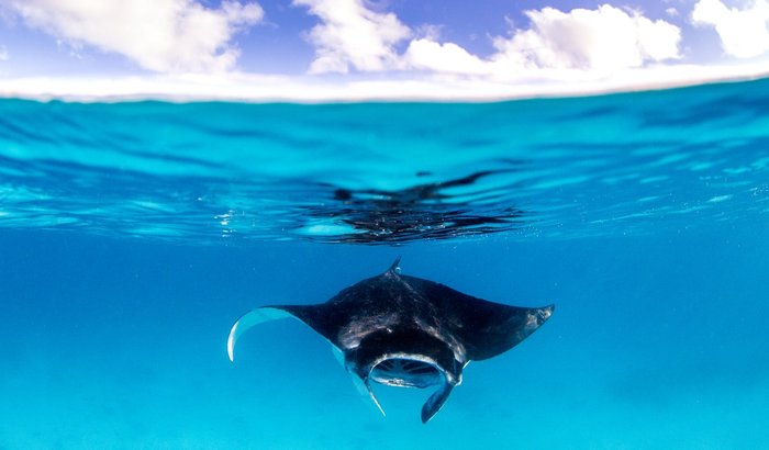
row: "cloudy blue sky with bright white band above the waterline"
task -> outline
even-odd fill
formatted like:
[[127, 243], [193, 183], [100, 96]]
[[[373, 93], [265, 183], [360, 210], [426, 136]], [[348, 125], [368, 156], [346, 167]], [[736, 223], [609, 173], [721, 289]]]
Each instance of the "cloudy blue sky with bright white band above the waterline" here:
[[769, 0], [0, 0], [0, 95], [514, 98], [769, 72]]

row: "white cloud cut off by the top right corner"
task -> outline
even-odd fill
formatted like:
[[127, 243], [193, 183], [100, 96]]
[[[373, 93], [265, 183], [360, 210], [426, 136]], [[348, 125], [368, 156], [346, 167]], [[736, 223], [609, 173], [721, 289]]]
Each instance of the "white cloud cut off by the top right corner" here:
[[700, 0], [692, 11], [692, 23], [713, 26], [727, 55], [750, 58], [769, 50], [767, 0], [755, 0], [742, 10], [728, 8], [720, 0]]

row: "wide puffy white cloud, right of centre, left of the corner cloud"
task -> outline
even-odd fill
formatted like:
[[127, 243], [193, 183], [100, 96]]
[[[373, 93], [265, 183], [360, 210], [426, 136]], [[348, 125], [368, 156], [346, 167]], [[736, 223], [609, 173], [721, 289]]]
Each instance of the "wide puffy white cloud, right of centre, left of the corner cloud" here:
[[510, 69], [616, 70], [679, 58], [679, 27], [603, 4], [595, 10], [526, 11], [528, 30], [494, 40], [494, 59]]

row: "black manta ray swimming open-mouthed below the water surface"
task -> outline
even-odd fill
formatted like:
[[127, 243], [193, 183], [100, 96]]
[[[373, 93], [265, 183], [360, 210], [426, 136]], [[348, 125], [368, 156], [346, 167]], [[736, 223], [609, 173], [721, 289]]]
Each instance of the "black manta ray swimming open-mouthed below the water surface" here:
[[247, 329], [293, 316], [331, 342], [382, 414], [371, 381], [401, 387], [438, 385], [422, 407], [422, 423], [427, 423], [461, 383], [462, 369], [470, 361], [510, 350], [545, 323], [555, 307], [476, 299], [400, 274], [399, 262], [400, 257], [384, 273], [343, 290], [326, 303], [263, 306], [246, 313], [230, 330], [230, 361], [235, 342]]

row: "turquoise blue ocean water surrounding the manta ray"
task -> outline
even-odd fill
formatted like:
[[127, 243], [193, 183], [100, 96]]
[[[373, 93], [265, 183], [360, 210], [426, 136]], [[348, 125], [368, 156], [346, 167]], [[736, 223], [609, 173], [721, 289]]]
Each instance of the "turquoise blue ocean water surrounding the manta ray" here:
[[[769, 80], [493, 103], [0, 100], [0, 449], [768, 448]], [[556, 304], [361, 398], [252, 307]]]

